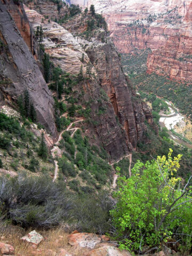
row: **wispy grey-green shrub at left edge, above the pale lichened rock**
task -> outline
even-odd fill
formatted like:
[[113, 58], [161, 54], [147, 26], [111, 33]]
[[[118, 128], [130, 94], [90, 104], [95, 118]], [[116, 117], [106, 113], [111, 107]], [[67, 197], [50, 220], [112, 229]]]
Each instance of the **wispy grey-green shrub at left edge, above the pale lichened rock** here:
[[4, 220], [22, 227], [49, 228], [70, 216], [70, 195], [45, 175], [1, 176], [0, 187], [0, 211]]

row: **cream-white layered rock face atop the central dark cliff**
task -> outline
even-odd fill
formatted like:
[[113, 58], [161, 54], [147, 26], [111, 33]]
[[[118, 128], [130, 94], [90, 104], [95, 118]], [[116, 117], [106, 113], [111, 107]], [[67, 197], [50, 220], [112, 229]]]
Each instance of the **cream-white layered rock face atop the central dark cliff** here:
[[[61, 69], [73, 75], [78, 74], [82, 66], [83, 73], [85, 73], [89, 58], [79, 44], [78, 39], [57, 22], [48, 22], [47, 20], [42, 22], [43, 15], [34, 10], [30, 10], [27, 6], [25, 6], [25, 11], [34, 30], [36, 30], [37, 26], [42, 26], [45, 52], [50, 54], [54, 65], [59, 65]], [[84, 63], [81, 62], [83, 53]]]

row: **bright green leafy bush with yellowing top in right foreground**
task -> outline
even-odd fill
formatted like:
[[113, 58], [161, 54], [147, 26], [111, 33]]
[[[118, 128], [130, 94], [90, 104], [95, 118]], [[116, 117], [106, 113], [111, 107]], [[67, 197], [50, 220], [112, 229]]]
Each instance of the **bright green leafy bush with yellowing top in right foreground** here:
[[181, 189], [181, 179], [176, 178], [181, 155], [172, 159], [171, 154], [170, 149], [167, 159], [158, 156], [151, 163], [138, 161], [129, 179], [118, 179], [117, 204], [111, 216], [116, 237], [124, 241], [122, 249], [159, 246], [170, 238], [180, 238], [190, 249], [191, 236], [186, 239], [182, 234], [192, 232], [192, 187], [188, 183]]

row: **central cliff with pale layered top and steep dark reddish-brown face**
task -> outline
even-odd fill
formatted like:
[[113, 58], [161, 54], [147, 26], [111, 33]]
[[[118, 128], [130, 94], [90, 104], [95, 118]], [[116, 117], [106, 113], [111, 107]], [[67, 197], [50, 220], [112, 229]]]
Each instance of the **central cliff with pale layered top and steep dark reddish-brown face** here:
[[[44, 14], [49, 3], [41, 5]], [[86, 79], [73, 87], [74, 91], [84, 91], [82, 105], [91, 102], [91, 117], [86, 132], [95, 141], [102, 142], [112, 159], [129, 154], [139, 141], [145, 138], [145, 119], [152, 123], [151, 112], [145, 103], [138, 102], [129, 81], [122, 72], [118, 53], [102, 29], [94, 31], [94, 37], [87, 41], [79, 36], [86, 31], [81, 14], [65, 23], [65, 28], [53, 21], [44, 20], [41, 14], [26, 7], [33, 26], [42, 25], [45, 51], [50, 54], [55, 65], [71, 74], [78, 74], [81, 66]], [[58, 38], [58, 40], [56, 40]], [[102, 43], [101, 42], [102, 38]], [[82, 61], [82, 54], [84, 60]], [[91, 67], [91, 76], [86, 70]], [[107, 95], [106, 95], [107, 94]], [[107, 97], [108, 96], [108, 97]]]

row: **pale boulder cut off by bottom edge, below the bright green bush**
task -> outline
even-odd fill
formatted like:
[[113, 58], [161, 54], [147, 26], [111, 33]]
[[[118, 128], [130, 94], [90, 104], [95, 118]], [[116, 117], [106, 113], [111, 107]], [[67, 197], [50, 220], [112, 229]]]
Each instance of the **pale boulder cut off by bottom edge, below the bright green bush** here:
[[108, 245], [87, 252], [84, 256], [131, 256], [131, 253]]

